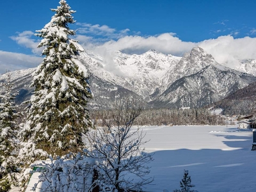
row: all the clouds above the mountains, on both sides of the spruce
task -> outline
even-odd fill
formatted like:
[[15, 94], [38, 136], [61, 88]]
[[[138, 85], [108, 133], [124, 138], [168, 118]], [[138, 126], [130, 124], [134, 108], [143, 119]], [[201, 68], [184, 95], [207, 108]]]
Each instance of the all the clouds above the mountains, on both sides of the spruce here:
[[[116, 69], [112, 62], [115, 56], [113, 52], [116, 51], [127, 54], [142, 54], [150, 49], [156, 49], [164, 54], [182, 56], [185, 52], [191, 51], [193, 47], [200, 46], [212, 54], [218, 63], [231, 68], [237, 67], [241, 60], [256, 59], [256, 38], [249, 36], [234, 38], [234, 36], [225, 35], [202, 42], [186, 42], [175, 33], [143, 36], [140, 35], [140, 32], [130, 31], [130, 29], [118, 31], [105, 25], [78, 23], [77, 26], [79, 29], [74, 38], [79, 40], [80, 44], [88, 51], [102, 56], [105, 59], [106, 68], [110, 70]], [[39, 40], [35, 39], [33, 34], [33, 31], [22, 31], [16, 36], [10, 36], [18, 45], [31, 49], [34, 55], [1, 51], [0, 74], [3, 74], [5, 70], [36, 67], [40, 63], [42, 48], [36, 47]]]

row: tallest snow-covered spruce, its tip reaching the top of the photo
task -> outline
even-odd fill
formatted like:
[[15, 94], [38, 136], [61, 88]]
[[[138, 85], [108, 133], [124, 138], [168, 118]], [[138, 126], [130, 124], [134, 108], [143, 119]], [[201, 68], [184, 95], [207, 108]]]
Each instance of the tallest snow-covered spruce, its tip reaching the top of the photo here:
[[33, 74], [31, 85], [35, 92], [21, 134], [21, 153], [30, 159], [25, 159], [27, 164], [50, 154], [56, 157], [81, 152], [83, 135], [92, 126], [86, 110], [88, 99], [92, 98], [87, 70], [77, 60], [83, 47], [68, 37], [75, 35], [68, 28], [75, 22], [75, 11], [61, 0], [52, 12], [56, 13], [51, 21], [35, 34], [43, 38], [38, 47], [45, 47], [45, 58]]

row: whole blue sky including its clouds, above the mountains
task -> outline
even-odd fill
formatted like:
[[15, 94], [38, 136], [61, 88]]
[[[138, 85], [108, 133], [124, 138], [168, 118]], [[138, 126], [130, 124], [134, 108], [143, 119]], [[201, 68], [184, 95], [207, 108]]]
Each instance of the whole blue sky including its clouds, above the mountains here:
[[[0, 72], [6, 67], [14, 70], [38, 65], [40, 49], [36, 45], [40, 39], [33, 33], [51, 20], [54, 13], [50, 8], [56, 8], [58, 2], [1, 1]], [[191, 47], [201, 45], [217, 56], [220, 63], [227, 63], [228, 55], [236, 58], [231, 48], [242, 46], [246, 52], [256, 47], [253, 46], [256, 38], [256, 1], [253, 0], [67, 0], [67, 3], [77, 11], [74, 13], [77, 22], [70, 26], [78, 29], [74, 38], [98, 54], [106, 49], [138, 54], [157, 49], [182, 56]], [[230, 47], [230, 51], [220, 57], [216, 52], [220, 47], [216, 44], [221, 44], [222, 50]], [[228, 45], [223, 47], [224, 44]], [[251, 51], [246, 57], [256, 58], [255, 48]], [[220, 59], [223, 57], [226, 60]], [[15, 63], [15, 58], [20, 64]]]

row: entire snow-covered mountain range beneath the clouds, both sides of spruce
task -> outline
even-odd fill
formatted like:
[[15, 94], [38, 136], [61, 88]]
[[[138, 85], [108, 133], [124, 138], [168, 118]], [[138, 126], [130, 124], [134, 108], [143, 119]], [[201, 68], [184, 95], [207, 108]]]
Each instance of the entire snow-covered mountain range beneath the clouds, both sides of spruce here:
[[[85, 51], [79, 60], [90, 74], [94, 94], [90, 108], [95, 109], [111, 108], [125, 95], [154, 107], [200, 107], [256, 81], [253, 75], [220, 65], [200, 47], [182, 58], [155, 50], [140, 55], [115, 52], [111, 58]], [[29, 99], [33, 91], [28, 84], [34, 70], [13, 72], [19, 102]]]

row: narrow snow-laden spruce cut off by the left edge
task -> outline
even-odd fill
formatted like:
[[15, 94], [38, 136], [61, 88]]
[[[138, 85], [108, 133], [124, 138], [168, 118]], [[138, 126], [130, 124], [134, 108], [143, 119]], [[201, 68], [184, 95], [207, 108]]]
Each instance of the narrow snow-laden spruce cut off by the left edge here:
[[0, 95], [0, 191], [9, 191], [17, 185], [17, 125], [15, 123], [15, 97], [12, 92], [12, 75], [6, 72], [1, 86], [4, 95]]

